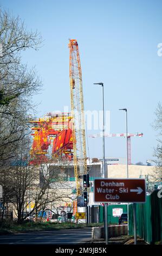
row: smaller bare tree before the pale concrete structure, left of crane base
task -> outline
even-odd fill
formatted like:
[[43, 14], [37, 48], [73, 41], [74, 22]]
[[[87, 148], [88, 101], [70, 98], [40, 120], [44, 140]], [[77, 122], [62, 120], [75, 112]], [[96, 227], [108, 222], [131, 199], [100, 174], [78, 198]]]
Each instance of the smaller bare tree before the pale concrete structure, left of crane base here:
[[72, 190], [68, 187], [63, 167], [59, 166], [54, 159], [40, 164], [38, 169], [40, 183], [39, 186], [38, 184], [32, 185], [30, 198], [35, 203], [33, 212], [41, 211], [43, 215], [47, 209], [57, 208], [58, 204], [72, 200]]

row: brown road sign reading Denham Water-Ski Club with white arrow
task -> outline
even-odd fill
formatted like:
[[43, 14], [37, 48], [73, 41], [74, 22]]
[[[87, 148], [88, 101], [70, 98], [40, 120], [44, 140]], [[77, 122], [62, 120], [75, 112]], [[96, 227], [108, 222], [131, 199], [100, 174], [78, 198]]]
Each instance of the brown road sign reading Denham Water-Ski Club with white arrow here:
[[145, 179], [95, 179], [94, 201], [103, 203], [145, 203]]

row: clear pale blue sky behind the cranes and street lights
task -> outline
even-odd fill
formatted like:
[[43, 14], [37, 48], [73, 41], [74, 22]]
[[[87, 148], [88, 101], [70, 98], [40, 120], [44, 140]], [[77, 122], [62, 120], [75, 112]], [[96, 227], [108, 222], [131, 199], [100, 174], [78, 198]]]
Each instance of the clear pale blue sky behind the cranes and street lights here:
[[[158, 132], [151, 123], [161, 101], [162, 1], [37, 1], [0, 0], [24, 20], [28, 29], [41, 33], [43, 47], [23, 54], [23, 62], [36, 66], [43, 81], [37, 116], [70, 108], [68, 39], [77, 39], [80, 50], [86, 110], [102, 109], [102, 92], [93, 83], [102, 81], [105, 109], [111, 112], [111, 133], [143, 132], [131, 140], [132, 162], [153, 159]], [[97, 133], [88, 131], [89, 134]], [[90, 157], [102, 157], [102, 139], [88, 139]], [[124, 138], [106, 138], [106, 156], [126, 156]]]

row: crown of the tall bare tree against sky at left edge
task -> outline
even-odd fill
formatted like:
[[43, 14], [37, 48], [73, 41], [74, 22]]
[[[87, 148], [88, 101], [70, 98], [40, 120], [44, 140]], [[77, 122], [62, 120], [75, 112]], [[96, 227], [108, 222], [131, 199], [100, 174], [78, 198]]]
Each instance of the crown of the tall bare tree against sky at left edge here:
[[34, 109], [31, 96], [41, 88], [34, 68], [22, 63], [21, 52], [38, 50], [41, 36], [27, 31], [19, 17], [0, 10], [0, 163], [14, 156], [27, 127], [27, 113]]

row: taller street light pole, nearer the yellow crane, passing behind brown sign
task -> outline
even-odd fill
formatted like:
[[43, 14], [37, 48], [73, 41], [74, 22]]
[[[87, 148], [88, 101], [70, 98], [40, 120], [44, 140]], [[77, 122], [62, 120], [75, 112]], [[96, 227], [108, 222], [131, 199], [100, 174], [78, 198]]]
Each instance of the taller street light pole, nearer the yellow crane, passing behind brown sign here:
[[[103, 161], [102, 161], [102, 178], [106, 179], [106, 168], [105, 168], [105, 112], [104, 112], [104, 92], [103, 92], [103, 83], [94, 83], [102, 86], [102, 111], [103, 111], [103, 134], [102, 134], [102, 148], [103, 148]], [[104, 230], [105, 230], [105, 240], [106, 245], [108, 245], [108, 220], [107, 220], [107, 204], [104, 205], [105, 210], [105, 222], [104, 222]]]

